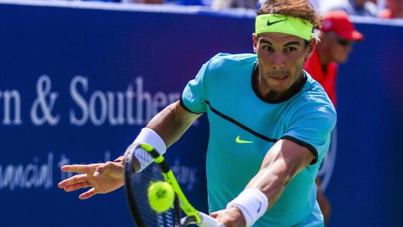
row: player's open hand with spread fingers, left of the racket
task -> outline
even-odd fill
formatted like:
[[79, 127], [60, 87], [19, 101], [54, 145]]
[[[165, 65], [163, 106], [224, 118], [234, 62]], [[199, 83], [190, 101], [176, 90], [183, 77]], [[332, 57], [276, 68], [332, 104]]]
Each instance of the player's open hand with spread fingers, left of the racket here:
[[98, 193], [110, 193], [124, 185], [123, 162], [65, 165], [62, 166], [62, 171], [79, 174], [58, 183], [59, 188], [71, 192], [80, 188], [91, 187], [79, 195], [81, 200], [86, 200]]

